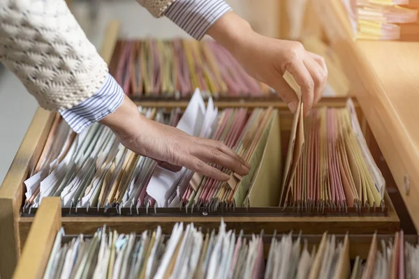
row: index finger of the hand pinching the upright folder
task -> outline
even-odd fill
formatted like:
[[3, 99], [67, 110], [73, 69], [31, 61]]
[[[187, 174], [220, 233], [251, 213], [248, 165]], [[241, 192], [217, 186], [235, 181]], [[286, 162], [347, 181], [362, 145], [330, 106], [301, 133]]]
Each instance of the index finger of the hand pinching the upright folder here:
[[309, 70], [307, 70], [307, 67], [300, 60], [291, 63], [287, 70], [293, 75], [295, 82], [297, 82], [301, 88], [302, 101], [304, 103], [304, 116], [307, 116], [313, 106], [314, 80], [311, 77]]

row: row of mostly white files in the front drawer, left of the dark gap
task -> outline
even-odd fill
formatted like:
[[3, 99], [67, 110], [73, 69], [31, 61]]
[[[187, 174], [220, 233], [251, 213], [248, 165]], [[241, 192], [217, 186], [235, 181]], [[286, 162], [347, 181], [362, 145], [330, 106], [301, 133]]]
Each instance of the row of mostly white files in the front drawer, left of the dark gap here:
[[348, 278], [351, 272], [348, 235], [340, 242], [325, 233], [318, 248], [311, 250], [302, 236], [274, 236], [267, 260], [263, 233], [236, 235], [223, 222], [218, 233], [177, 223], [170, 236], [160, 227], [140, 234], [118, 234], [103, 227], [93, 237], [80, 234], [68, 242], [63, 236], [61, 229], [45, 279]]

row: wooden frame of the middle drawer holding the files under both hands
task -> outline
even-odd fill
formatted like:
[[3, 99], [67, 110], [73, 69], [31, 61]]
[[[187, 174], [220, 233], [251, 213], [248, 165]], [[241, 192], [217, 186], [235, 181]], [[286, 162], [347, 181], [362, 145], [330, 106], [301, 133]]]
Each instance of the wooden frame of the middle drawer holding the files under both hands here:
[[[107, 63], [109, 63], [112, 52], [117, 41], [119, 30], [118, 22], [111, 22], [105, 36], [101, 55]], [[186, 102], [142, 102], [143, 106], [159, 106], [159, 107], [185, 107]], [[319, 105], [342, 106], [344, 98], [325, 98], [321, 100]], [[218, 107], [268, 107], [273, 106], [279, 110], [288, 110], [286, 104], [281, 100], [269, 101], [247, 101], [242, 100], [236, 103], [215, 101]], [[355, 102], [356, 105], [356, 102]], [[27, 134], [22, 141], [20, 149], [17, 151], [15, 159], [3, 181], [0, 188], [0, 276], [1, 278], [10, 278], [17, 259], [20, 257], [20, 250], [24, 241], [29, 234], [31, 223], [34, 217], [21, 217], [20, 207], [24, 196], [23, 181], [27, 178], [29, 167], [34, 165], [41, 155], [54, 113], [47, 112], [39, 108], [34, 116]], [[361, 118], [361, 125], [366, 126], [366, 120]], [[367, 132], [369, 129], [365, 129]], [[371, 137], [367, 133], [366, 138]], [[375, 142], [375, 141], [372, 141]], [[378, 149], [379, 151], [379, 149]], [[381, 153], [374, 154], [375, 158], [379, 158]], [[383, 173], [386, 181], [392, 183], [390, 173]], [[390, 175], [390, 176], [389, 176]], [[343, 234], [346, 231], [358, 234], [367, 234], [374, 231], [382, 233], [395, 232], [399, 229], [399, 218], [395, 212], [392, 202], [386, 195], [386, 206], [389, 207], [388, 216], [309, 216], [309, 217], [224, 217], [224, 222], [228, 227], [243, 228], [249, 227], [248, 232], [257, 232], [265, 229], [265, 232], [273, 232], [277, 229], [279, 232], [289, 232], [291, 229], [299, 228], [306, 232], [320, 232], [323, 228], [328, 228], [329, 232]], [[69, 234], [83, 232], [91, 234], [96, 231], [97, 227], [108, 224], [119, 232], [130, 232], [131, 230], [140, 231], [161, 225], [163, 230], [170, 232], [172, 225], [177, 222], [193, 222], [203, 227], [218, 227], [221, 216], [203, 216], [203, 217], [65, 217], [62, 219], [62, 225]], [[258, 225], [256, 225], [256, 223]], [[321, 224], [319, 227], [318, 225]]]

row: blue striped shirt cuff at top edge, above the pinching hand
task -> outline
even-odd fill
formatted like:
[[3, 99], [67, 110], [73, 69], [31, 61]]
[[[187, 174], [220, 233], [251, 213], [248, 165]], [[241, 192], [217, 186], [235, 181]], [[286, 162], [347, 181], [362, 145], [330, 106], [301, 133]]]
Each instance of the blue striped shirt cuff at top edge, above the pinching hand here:
[[223, 0], [176, 0], [164, 15], [196, 40], [231, 8]]

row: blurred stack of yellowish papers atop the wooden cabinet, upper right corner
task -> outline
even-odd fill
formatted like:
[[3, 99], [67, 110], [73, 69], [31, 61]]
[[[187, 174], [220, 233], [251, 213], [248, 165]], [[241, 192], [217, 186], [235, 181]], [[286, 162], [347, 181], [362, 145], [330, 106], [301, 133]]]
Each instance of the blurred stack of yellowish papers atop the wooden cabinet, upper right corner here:
[[419, 38], [418, 10], [405, 8], [408, 0], [343, 0], [355, 36], [366, 40]]

